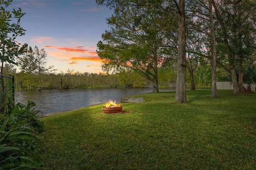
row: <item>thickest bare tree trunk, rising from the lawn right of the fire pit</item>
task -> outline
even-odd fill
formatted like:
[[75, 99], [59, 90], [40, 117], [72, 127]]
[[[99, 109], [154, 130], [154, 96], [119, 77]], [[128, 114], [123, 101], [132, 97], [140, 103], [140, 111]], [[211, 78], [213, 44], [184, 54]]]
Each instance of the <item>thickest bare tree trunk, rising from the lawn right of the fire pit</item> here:
[[178, 61], [176, 81], [176, 103], [187, 103], [186, 98], [186, 36], [185, 36], [185, 0], [179, 1], [178, 24]]

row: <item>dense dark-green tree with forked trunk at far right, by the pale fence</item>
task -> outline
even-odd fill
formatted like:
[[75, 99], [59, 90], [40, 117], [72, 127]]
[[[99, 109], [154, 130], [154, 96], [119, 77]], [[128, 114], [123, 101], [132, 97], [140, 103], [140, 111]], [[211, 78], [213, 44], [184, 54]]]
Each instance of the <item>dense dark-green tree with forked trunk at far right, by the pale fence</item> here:
[[[242, 65], [244, 59], [250, 57], [255, 49], [256, 2], [252, 0], [212, 1], [216, 19], [220, 24], [218, 42], [222, 43], [223, 56], [227, 56], [226, 69], [231, 73], [233, 94], [240, 93], [242, 85]], [[220, 51], [220, 50], [219, 50]], [[238, 64], [239, 63], [239, 64]], [[239, 83], [237, 82], [236, 68], [240, 67]]]

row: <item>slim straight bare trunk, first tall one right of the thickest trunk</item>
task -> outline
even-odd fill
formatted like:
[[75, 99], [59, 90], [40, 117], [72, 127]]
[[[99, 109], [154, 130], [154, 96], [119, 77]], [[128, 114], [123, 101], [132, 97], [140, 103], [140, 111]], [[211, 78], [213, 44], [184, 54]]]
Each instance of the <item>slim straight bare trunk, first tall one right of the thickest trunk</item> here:
[[209, 13], [210, 13], [210, 24], [211, 24], [211, 41], [212, 41], [212, 97], [218, 97], [217, 85], [216, 85], [216, 61], [217, 61], [217, 52], [216, 52], [216, 40], [215, 40], [215, 31], [213, 24], [212, 16], [212, 0], [209, 0]]

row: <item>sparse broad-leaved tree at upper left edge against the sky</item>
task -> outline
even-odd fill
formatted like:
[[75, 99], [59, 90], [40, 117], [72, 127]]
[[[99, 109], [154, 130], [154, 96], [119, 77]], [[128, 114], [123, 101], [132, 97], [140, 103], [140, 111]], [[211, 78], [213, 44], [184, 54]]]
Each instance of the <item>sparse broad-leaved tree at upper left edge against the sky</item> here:
[[[25, 30], [20, 26], [20, 19], [25, 13], [21, 8], [13, 9], [12, 12], [6, 10], [12, 0], [0, 0], [0, 62], [1, 74], [3, 73], [4, 62], [15, 63], [15, 57], [18, 57], [24, 49], [21, 44], [16, 42], [17, 36], [23, 36]], [[16, 21], [12, 20], [16, 19]]]

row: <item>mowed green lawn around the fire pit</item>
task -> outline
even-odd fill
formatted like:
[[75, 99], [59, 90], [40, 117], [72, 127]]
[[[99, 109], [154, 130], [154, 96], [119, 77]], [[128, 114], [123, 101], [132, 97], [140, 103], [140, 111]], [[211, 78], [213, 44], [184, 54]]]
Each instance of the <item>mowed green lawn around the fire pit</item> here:
[[147, 93], [118, 115], [101, 104], [42, 118], [42, 169], [256, 169], [256, 93], [231, 93]]

